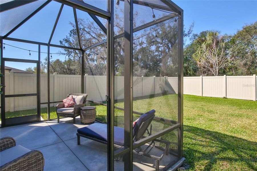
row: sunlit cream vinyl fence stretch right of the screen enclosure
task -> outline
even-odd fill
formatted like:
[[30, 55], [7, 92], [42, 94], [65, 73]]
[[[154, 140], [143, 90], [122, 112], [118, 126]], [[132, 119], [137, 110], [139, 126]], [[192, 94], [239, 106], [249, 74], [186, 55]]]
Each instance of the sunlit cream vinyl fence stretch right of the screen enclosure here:
[[183, 91], [191, 95], [256, 101], [256, 75], [184, 77]]

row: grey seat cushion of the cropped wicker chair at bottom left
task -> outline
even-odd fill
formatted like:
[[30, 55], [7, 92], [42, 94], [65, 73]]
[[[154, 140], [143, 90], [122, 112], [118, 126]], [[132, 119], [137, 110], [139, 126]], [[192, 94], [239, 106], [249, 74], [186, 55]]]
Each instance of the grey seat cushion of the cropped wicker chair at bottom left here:
[[8, 148], [0, 152], [0, 166], [13, 161], [14, 159], [30, 152], [28, 148], [21, 145], [16, 145], [14, 147]]

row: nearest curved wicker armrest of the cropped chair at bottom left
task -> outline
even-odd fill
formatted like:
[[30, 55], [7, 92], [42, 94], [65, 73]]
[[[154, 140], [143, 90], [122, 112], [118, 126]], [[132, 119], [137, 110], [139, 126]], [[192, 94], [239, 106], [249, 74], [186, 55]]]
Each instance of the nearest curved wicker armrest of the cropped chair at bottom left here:
[[32, 150], [0, 167], [1, 171], [7, 170], [42, 170], [44, 169], [44, 156], [39, 150]]

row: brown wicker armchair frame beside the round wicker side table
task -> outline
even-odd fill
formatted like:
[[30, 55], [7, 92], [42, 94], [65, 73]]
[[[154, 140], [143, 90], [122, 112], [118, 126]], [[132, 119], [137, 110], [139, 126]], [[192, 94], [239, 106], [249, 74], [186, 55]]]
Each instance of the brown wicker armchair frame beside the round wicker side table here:
[[[86, 105], [86, 97], [88, 96], [88, 94], [73, 93], [73, 94], [68, 94], [67, 97], [69, 97], [70, 95], [76, 95], [76, 96], [84, 95], [84, 103], [79, 105], [74, 105], [74, 107], [67, 107], [65, 109], [64, 109], [63, 103], [56, 105], [58, 122], [60, 121], [60, 117], [72, 117], [73, 124], [75, 124], [75, 118], [80, 115], [80, 107], [84, 107]], [[67, 111], [67, 112], [60, 113], [60, 110], [58, 109], [63, 109], [64, 111]]]

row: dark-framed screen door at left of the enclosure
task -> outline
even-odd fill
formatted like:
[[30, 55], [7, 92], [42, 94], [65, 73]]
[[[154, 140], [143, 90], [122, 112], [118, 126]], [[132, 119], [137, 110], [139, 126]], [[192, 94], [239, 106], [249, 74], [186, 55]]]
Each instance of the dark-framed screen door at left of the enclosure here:
[[39, 121], [38, 60], [3, 58], [2, 62], [2, 127]]

